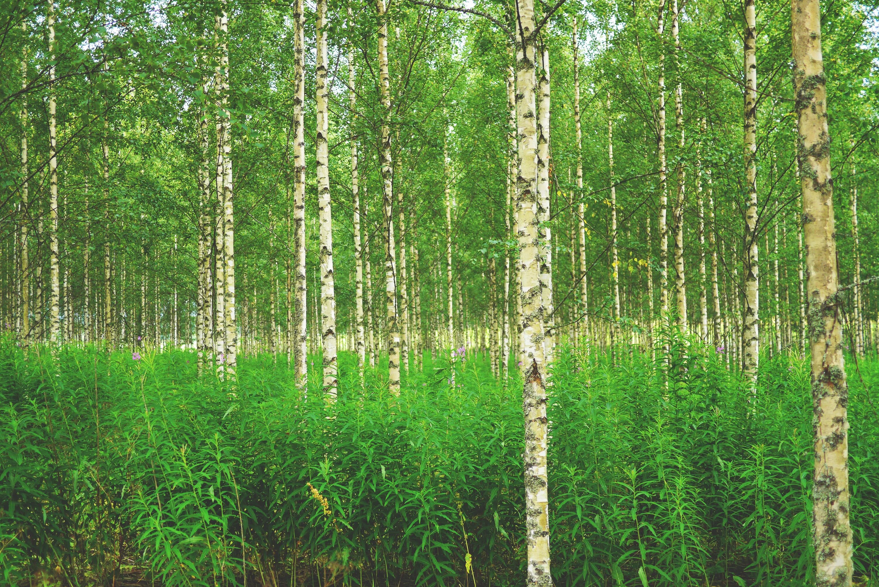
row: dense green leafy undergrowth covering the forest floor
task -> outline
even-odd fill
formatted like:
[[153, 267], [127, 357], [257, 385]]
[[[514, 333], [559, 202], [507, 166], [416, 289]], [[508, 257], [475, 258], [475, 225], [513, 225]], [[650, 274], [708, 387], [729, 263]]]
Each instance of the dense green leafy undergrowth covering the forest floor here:
[[[559, 352], [549, 388], [556, 585], [803, 585], [811, 403], [803, 359], [756, 401], [713, 349]], [[320, 365], [319, 359], [314, 364]], [[389, 395], [340, 358], [338, 402], [271, 357], [232, 386], [190, 352], [0, 344], [6, 583], [519, 585], [519, 383], [448, 360]], [[319, 380], [316, 372], [311, 381]], [[879, 557], [879, 362], [849, 365], [855, 575]], [[861, 578], [863, 577], [863, 578]], [[872, 584], [872, 583], [871, 583]]]

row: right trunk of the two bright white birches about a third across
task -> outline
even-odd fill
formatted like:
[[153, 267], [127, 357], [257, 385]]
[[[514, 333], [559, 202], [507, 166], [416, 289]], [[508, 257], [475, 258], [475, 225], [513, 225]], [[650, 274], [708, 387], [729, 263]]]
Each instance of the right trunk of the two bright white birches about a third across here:
[[323, 343], [323, 392], [336, 400], [338, 359], [336, 356], [336, 284], [332, 263], [332, 208], [330, 160], [327, 137], [329, 91], [327, 89], [327, 0], [317, 0], [316, 64], [316, 176], [317, 207], [321, 225], [321, 341]]

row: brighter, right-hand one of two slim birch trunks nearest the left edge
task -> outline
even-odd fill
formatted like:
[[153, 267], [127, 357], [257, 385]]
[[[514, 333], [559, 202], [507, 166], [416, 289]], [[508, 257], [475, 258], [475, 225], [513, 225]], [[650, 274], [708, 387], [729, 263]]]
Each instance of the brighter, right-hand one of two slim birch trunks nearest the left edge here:
[[49, 342], [61, 344], [61, 282], [58, 263], [58, 142], [55, 130], [54, 0], [49, 0]]

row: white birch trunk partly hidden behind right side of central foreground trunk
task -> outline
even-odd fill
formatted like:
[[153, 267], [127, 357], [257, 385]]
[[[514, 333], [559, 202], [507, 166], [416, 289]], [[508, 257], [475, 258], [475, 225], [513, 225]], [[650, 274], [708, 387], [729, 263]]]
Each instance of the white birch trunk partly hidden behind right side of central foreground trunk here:
[[[539, 51], [539, 49], [538, 49]], [[540, 77], [537, 79], [537, 220], [541, 241], [541, 304], [543, 306], [543, 356], [553, 358], [555, 332], [552, 305], [552, 232], [549, 228], [549, 51], [540, 51]]]

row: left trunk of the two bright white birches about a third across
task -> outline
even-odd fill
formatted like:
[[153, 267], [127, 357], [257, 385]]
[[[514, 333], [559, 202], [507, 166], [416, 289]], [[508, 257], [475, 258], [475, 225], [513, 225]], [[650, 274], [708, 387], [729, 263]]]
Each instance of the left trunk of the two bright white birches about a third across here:
[[305, 11], [294, 0], [294, 377], [302, 389], [308, 369], [308, 274], [305, 267]]

